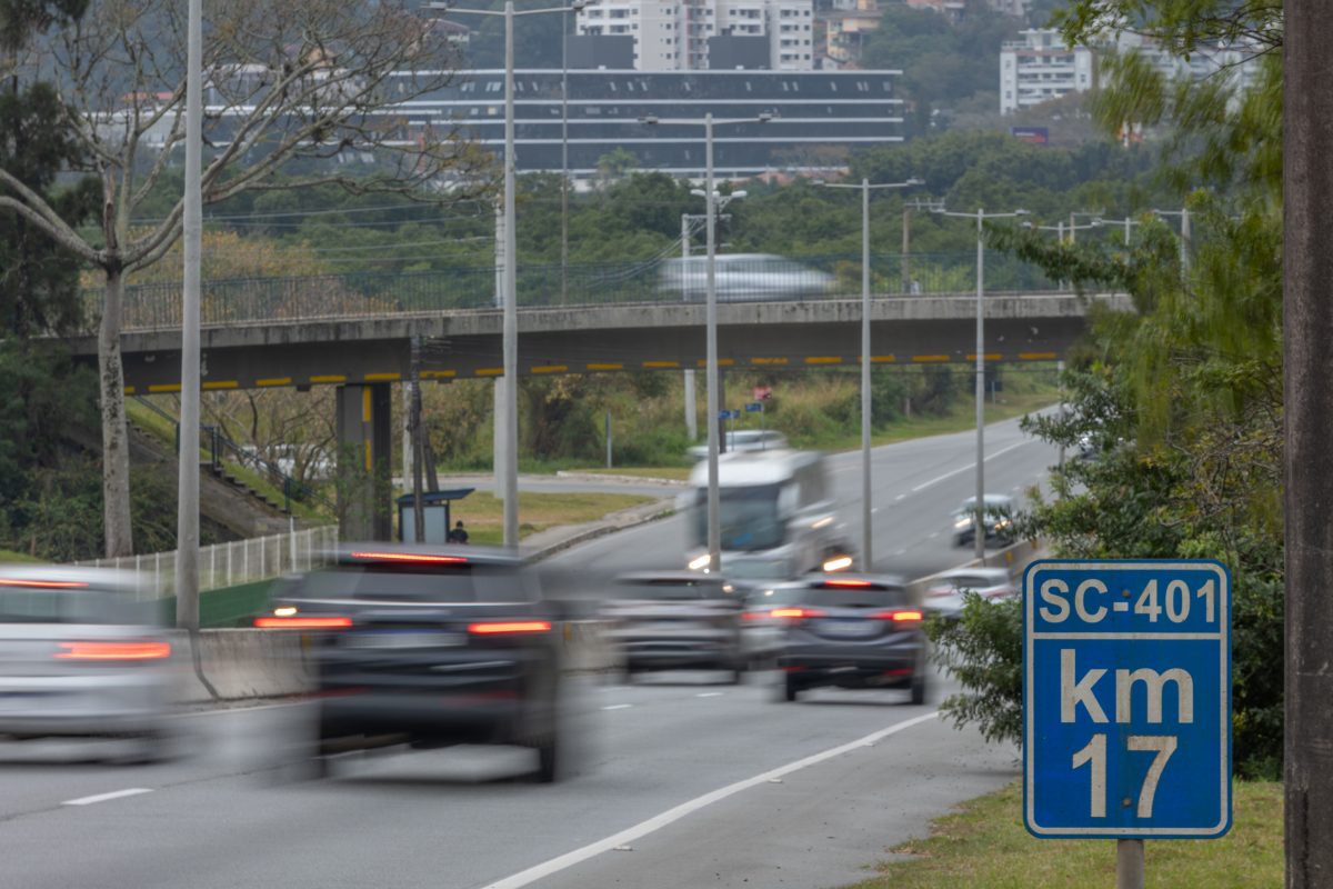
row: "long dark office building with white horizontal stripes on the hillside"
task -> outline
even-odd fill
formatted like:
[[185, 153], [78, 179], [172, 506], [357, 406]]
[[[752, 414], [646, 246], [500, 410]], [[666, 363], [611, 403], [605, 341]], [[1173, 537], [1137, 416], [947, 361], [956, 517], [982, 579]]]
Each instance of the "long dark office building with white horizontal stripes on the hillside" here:
[[[520, 171], [560, 171], [561, 147], [579, 177], [617, 148], [641, 169], [704, 175], [704, 128], [641, 123], [643, 117], [714, 119], [776, 115], [766, 123], [717, 124], [718, 176], [840, 165], [846, 152], [902, 141], [898, 71], [576, 71], [568, 101], [555, 71], [515, 73], [515, 139]], [[460, 72], [453, 85], [415, 101], [411, 128], [463, 124], [495, 152], [504, 151], [504, 72]], [[568, 137], [567, 140], [564, 137]]]

